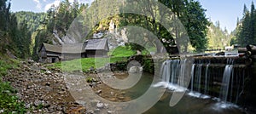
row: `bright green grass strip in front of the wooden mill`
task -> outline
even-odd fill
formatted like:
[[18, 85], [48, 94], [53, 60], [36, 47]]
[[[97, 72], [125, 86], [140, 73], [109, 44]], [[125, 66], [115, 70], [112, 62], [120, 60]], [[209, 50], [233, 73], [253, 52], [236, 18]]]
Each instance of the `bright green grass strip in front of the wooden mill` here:
[[[148, 54], [147, 50], [143, 50], [143, 54]], [[62, 71], [89, 71], [90, 67], [100, 68], [107, 63], [116, 63], [127, 61], [127, 59], [137, 54], [136, 50], [131, 50], [129, 46], [119, 46], [108, 52], [108, 58], [82, 58], [77, 60], [61, 61], [54, 63], [55, 68], [61, 68]]]

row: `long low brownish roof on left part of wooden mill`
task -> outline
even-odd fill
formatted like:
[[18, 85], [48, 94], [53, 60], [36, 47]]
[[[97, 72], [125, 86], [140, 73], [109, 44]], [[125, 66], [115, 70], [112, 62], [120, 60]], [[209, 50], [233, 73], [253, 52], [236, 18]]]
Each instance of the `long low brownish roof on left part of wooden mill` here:
[[84, 53], [84, 43], [73, 43], [73, 44], [63, 44], [63, 45], [50, 45], [43, 43], [46, 51], [55, 53], [68, 53], [68, 54], [79, 54]]

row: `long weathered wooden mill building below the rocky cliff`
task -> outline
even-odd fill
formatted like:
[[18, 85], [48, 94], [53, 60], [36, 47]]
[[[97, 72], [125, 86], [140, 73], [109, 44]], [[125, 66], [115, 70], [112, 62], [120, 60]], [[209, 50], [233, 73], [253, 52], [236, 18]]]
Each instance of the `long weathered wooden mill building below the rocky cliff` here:
[[55, 63], [61, 60], [74, 60], [79, 58], [94, 58], [108, 56], [108, 39], [89, 39], [84, 43], [51, 45], [43, 43], [38, 51], [39, 61]]

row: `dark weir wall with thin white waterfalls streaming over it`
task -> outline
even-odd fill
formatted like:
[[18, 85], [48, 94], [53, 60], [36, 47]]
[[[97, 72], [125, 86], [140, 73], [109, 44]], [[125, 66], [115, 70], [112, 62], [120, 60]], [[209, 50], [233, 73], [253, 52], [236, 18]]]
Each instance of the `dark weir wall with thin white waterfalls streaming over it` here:
[[[191, 61], [193, 63], [188, 63]], [[245, 79], [249, 77], [248, 66], [243, 58], [195, 57], [193, 60], [166, 60], [160, 69], [165, 88], [183, 88], [191, 94], [212, 96], [224, 102], [243, 103]], [[184, 75], [186, 71], [190, 71], [190, 76]], [[185, 87], [185, 83], [189, 83], [188, 87]]]

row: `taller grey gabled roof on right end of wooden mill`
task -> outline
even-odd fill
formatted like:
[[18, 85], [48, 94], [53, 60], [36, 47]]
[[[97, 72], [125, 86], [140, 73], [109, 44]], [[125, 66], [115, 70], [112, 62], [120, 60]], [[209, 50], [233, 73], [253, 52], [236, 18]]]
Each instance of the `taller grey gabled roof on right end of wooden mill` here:
[[108, 39], [107, 38], [94, 38], [86, 41], [85, 50], [106, 50], [108, 51]]

